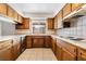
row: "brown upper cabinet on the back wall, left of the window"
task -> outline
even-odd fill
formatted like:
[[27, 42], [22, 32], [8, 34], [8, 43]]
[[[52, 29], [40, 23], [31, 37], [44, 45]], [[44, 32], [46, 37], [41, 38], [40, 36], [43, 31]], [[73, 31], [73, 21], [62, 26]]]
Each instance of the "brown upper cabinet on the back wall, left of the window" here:
[[16, 29], [29, 29], [29, 18], [23, 18], [22, 24], [15, 25]]

